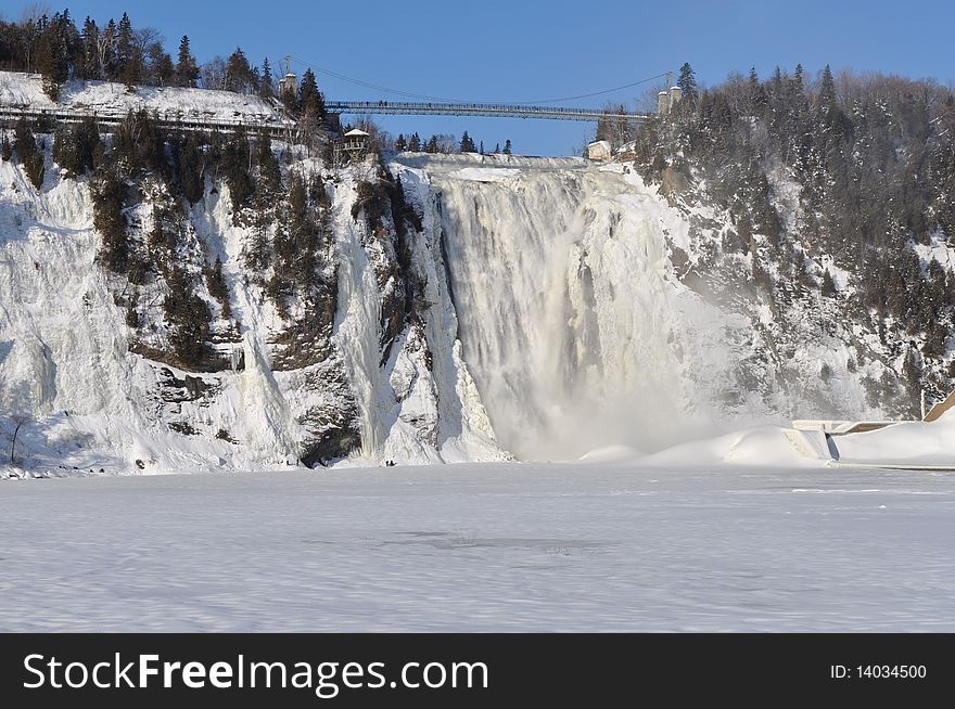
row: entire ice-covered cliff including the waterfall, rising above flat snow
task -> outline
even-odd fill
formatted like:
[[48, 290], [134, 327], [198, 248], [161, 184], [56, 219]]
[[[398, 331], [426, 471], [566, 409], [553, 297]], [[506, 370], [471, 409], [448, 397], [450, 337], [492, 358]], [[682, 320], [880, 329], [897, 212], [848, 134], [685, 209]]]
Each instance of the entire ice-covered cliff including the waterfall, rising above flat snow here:
[[[263, 232], [208, 181], [176, 252], [196, 283], [218, 259], [228, 286], [228, 308], [199, 293], [226, 363], [204, 371], [164, 354], [169, 278], [133, 283], [100, 262], [88, 178], [61, 175], [49, 150], [39, 190], [0, 164], [0, 425], [9, 443], [23, 422], [18, 465], [555, 460], [882, 413], [866, 382], [891, 362], [873, 333], [824, 301], [775, 311], [744, 288], [752, 254], [712, 260], [724, 215], [667, 201], [623, 165], [405, 154], [380, 171], [276, 150], [327, 201], [318, 268], [331, 293], [278, 307], [249, 254], [281, 218]], [[385, 183], [392, 196], [375, 196]], [[400, 227], [399, 199], [420, 224]], [[142, 182], [125, 209], [130, 248], [153, 253], [168, 202]], [[324, 334], [306, 326], [322, 307]]]

